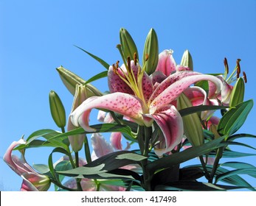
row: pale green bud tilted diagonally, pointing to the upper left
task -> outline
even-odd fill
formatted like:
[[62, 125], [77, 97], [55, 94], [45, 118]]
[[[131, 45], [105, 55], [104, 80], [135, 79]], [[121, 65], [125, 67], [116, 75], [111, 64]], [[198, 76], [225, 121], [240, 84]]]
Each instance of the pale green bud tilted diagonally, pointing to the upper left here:
[[[63, 84], [66, 86], [69, 92], [72, 93], [73, 96], [75, 95], [76, 85], [86, 84], [86, 81], [84, 79], [77, 76], [77, 74], [74, 74], [72, 71], [69, 71], [66, 68], [63, 68], [62, 66], [58, 67], [57, 71], [60, 75], [60, 79], [62, 80]], [[86, 88], [87, 88], [88, 96], [103, 95], [103, 93], [101, 93], [100, 90], [97, 90], [97, 88], [94, 88], [94, 86], [92, 86], [91, 84], [86, 84]]]

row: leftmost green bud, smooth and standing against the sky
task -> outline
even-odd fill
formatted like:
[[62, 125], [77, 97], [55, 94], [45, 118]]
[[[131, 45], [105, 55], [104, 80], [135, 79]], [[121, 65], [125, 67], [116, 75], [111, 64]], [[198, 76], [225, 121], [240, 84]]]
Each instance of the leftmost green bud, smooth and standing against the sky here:
[[49, 107], [51, 110], [52, 118], [58, 127], [63, 128], [66, 126], [66, 113], [65, 108], [55, 91], [51, 90], [49, 93]]

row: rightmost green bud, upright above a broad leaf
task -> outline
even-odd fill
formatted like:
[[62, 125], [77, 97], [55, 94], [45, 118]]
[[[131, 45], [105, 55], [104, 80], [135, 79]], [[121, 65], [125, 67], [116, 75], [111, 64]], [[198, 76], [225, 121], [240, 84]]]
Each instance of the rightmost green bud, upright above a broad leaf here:
[[234, 88], [230, 94], [230, 107], [235, 107], [236, 105], [243, 102], [245, 84], [242, 77], [239, 77], [238, 81], [235, 83]]

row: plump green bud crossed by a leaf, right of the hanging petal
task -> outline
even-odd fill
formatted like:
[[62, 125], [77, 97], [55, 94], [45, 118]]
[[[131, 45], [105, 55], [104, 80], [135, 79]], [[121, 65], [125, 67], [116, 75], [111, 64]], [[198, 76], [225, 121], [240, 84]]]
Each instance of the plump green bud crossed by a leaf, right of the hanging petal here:
[[[193, 105], [190, 102], [190, 99], [188, 99], [184, 93], [181, 93], [177, 100], [177, 108], [178, 110], [181, 110], [187, 107], [193, 107]], [[197, 113], [183, 116], [182, 120], [184, 125], [184, 134], [188, 141], [190, 141], [193, 146], [202, 145], [204, 143], [204, 132]]]

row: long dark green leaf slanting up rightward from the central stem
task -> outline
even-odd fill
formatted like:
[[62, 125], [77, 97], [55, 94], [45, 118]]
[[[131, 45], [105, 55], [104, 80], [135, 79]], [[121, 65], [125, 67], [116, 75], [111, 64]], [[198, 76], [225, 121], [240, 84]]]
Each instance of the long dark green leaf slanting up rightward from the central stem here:
[[172, 155], [168, 155], [166, 157], [162, 157], [159, 160], [155, 160], [151, 163], [148, 163], [148, 171], [153, 174], [156, 170], [161, 168], [168, 168], [171, 166], [175, 166], [179, 163], [184, 163], [187, 160], [193, 159], [195, 157], [199, 157], [203, 154], [210, 153], [213, 149], [223, 146], [221, 141], [223, 141], [225, 136], [218, 138], [214, 141], [210, 141], [208, 143], [204, 143], [201, 146], [193, 146], [189, 149], [185, 149], [182, 152], [177, 152]]

